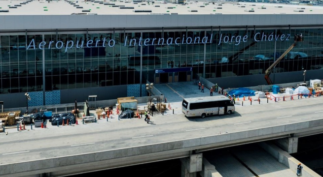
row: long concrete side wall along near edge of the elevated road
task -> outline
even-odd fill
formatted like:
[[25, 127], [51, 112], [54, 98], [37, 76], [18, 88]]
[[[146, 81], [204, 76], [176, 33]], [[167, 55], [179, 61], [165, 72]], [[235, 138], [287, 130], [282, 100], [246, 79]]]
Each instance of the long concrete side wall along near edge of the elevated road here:
[[[313, 129], [322, 130], [323, 132], [323, 119], [258, 128], [240, 132], [229, 132], [226, 134], [211, 135], [206, 137], [198, 137], [131, 148], [111, 149], [86, 154], [0, 165], [0, 175], [28, 171], [39, 171], [43, 169], [46, 169], [48, 171], [49, 168], [59, 168], [60, 170], [63, 170], [64, 168], [68, 169], [69, 165], [74, 164], [84, 165], [84, 163], [89, 162], [123, 158], [143, 154], [148, 155], [149, 153], [158, 153], [159, 155], [163, 153], [168, 154], [169, 151], [172, 150], [177, 150], [177, 152], [183, 152], [187, 150], [195, 150], [202, 148], [221, 148], [233, 144], [244, 144], [259, 140], [264, 141], [266, 139], [268, 140], [272, 138], [288, 136], [291, 133], [306, 132], [311, 131]], [[127, 161], [127, 163], [129, 163], [129, 161]], [[291, 168], [293, 168], [293, 166], [291, 166]]]

